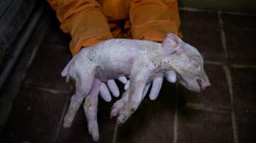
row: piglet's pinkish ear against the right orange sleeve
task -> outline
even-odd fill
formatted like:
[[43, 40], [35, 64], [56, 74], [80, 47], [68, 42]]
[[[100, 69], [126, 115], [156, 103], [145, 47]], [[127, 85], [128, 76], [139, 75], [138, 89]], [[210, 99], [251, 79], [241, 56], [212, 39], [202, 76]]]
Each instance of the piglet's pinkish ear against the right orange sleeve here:
[[180, 46], [183, 44], [183, 41], [176, 36], [175, 34], [169, 33], [166, 35], [163, 40], [162, 46], [164, 48], [165, 54], [171, 54], [174, 51], [180, 49]]

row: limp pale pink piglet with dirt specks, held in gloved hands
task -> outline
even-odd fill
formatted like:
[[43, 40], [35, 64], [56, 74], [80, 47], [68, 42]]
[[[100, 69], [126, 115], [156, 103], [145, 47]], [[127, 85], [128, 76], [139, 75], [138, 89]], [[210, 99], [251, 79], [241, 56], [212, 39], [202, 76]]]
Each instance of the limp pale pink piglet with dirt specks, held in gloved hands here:
[[168, 34], [162, 44], [134, 39], [110, 39], [95, 44], [74, 56], [65, 66], [62, 76], [76, 82], [76, 93], [71, 97], [64, 127], [70, 127], [86, 98], [83, 109], [94, 141], [99, 139], [96, 113], [102, 82], [129, 77], [127, 91], [111, 111], [111, 117], [117, 116], [118, 124], [126, 122], [136, 111], [151, 83], [155, 86], [151, 89], [150, 98], [156, 98], [163, 77], [169, 82], [177, 80], [194, 92], [211, 86], [204, 72], [201, 54], [175, 34]]

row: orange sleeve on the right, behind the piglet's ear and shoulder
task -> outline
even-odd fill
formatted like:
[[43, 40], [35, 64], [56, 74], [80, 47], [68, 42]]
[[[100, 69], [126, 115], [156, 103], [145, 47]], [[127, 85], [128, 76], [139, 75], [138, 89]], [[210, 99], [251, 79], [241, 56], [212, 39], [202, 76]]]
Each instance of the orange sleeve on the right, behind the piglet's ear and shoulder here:
[[132, 0], [129, 16], [133, 39], [163, 41], [170, 32], [180, 35], [176, 0], [169, 0], [168, 3], [160, 0]]

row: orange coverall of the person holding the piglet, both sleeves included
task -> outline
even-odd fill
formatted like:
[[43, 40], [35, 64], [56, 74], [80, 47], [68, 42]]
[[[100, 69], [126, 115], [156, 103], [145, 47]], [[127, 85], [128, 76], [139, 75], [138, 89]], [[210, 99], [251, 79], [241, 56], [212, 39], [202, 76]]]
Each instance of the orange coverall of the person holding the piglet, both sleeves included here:
[[106, 39], [163, 41], [172, 32], [181, 36], [177, 0], [48, 0], [60, 29], [71, 35], [70, 51]]

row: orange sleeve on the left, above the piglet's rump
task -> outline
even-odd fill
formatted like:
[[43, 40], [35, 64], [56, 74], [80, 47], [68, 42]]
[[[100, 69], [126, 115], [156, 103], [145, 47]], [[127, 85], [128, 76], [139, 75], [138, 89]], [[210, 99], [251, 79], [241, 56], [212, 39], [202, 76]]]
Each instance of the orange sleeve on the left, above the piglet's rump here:
[[70, 51], [77, 54], [82, 47], [91, 46], [112, 35], [109, 24], [95, 0], [48, 0], [61, 23], [60, 28], [72, 36]]

